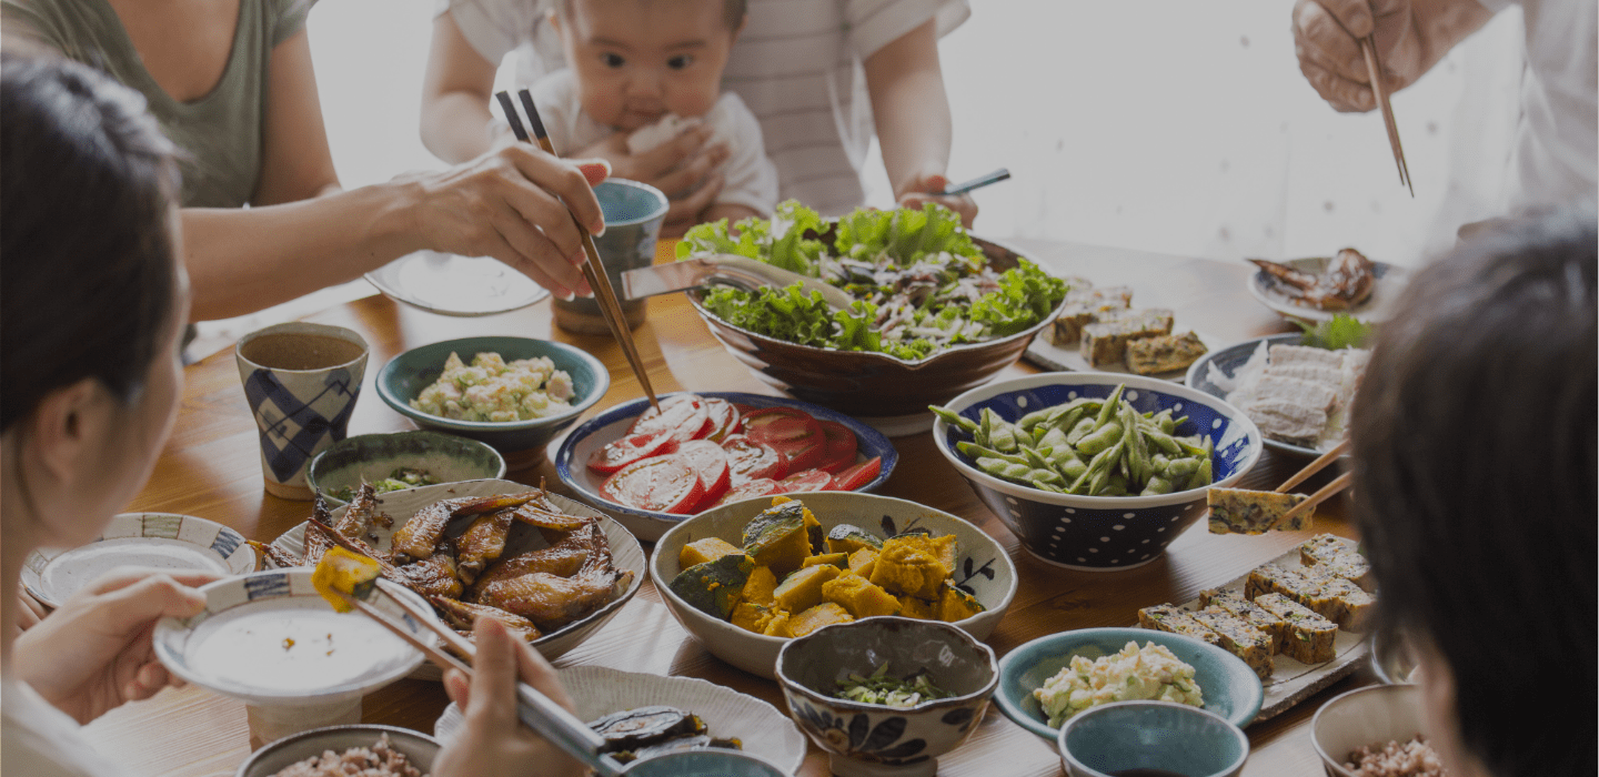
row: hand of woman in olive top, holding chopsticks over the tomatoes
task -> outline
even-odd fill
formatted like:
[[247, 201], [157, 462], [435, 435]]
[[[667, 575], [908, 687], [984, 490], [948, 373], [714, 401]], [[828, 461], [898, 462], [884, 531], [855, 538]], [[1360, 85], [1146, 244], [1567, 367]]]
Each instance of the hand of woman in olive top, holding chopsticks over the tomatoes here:
[[560, 297], [592, 291], [582, 233], [604, 232], [593, 184], [603, 160], [560, 160], [528, 144], [504, 145], [443, 173], [409, 176], [416, 237], [438, 251], [492, 256]]

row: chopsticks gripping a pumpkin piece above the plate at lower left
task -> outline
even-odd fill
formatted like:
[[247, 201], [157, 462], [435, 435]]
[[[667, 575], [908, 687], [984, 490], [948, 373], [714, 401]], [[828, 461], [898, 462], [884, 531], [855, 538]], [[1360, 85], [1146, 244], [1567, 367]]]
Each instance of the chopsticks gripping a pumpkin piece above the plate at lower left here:
[[[379, 580], [376, 590], [382, 592], [389, 601], [395, 603], [405, 614], [406, 619], [416, 620], [438, 635], [445, 644], [454, 648], [462, 655], [477, 655], [477, 646], [470, 640], [457, 635], [453, 628], [440, 624], [432, 612], [421, 612], [417, 608], [405, 601], [401, 596], [395, 596], [392, 592], [385, 590], [387, 580]], [[395, 636], [405, 640], [411, 648], [422, 651], [433, 663], [440, 668], [461, 670], [469, 678], [472, 676], [472, 667], [465, 662], [456, 659], [454, 655], [429, 644], [427, 641], [417, 638], [409, 628], [395, 622], [387, 612], [361, 601], [349, 593], [336, 592], [344, 596], [344, 601], [350, 603], [355, 609], [361, 611], [366, 617], [376, 620], [384, 628], [393, 632]], [[465, 710], [462, 710], [465, 711]], [[572, 713], [566, 711], [561, 705], [550, 700], [550, 697], [540, 694], [537, 689], [526, 683], [516, 683], [516, 716], [521, 719], [523, 726], [528, 726], [534, 734], [544, 737], [552, 745], [566, 751], [566, 755], [579, 759], [584, 766], [593, 769], [600, 777], [616, 777], [622, 772], [622, 767], [611, 759], [611, 756], [603, 755], [600, 750], [604, 747], [604, 737], [595, 734], [593, 729], [577, 719]]]

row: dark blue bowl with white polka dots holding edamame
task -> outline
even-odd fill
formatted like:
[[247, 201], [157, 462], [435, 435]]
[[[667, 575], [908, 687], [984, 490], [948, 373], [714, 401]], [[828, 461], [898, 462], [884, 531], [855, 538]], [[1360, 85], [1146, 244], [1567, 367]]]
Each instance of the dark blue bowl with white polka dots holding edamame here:
[[[1041, 408], [1078, 396], [1110, 396], [1127, 384], [1122, 400], [1138, 412], [1170, 408], [1188, 422], [1180, 435], [1202, 433], [1215, 446], [1215, 486], [1231, 486], [1260, 459], [1260, 430], [1238, 408], [1204, 392], [1129, 374], [1046, 373], [972, 388], [947, 408], [979, 419], [983, 408], [1015, 422]], [[1161, 496], [1091, 497], [1054, 494], [988, 475], [955, 449], [964, 440], [943, 419], [932, 438], [950, 464], [972, 484], [977, 497], [1022, 540], [1022, 548], [1055, 566], [1084, 571], [1118, 571], [1146, 564], [1204, 515], [1206, 489]]]

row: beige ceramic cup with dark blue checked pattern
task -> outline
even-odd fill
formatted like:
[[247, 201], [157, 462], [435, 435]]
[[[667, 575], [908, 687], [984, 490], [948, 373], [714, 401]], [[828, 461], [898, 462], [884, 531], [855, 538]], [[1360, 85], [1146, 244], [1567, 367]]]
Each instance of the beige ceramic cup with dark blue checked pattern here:
[[309, 500], [305, 464], [349, 433], [366, 341], [342, 326], [285, 323], [246, 334], [233, 353], [261, 430], [267, 492]]

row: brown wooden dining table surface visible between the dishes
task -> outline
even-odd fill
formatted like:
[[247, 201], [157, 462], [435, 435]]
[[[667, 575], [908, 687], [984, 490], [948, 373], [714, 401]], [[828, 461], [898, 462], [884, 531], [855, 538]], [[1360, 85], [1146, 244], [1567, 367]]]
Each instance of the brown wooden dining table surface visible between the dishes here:
[[[1095, 285], [1126, 285], [1138, 307], [1164, 307], [1177, 326], [1201, 333], [1209, 342], [1238, 342], [1292, 331], [1257, 304], [1246, 289], [1252, 272], [1244, 262], [1177, 257], [1119, 248], [1062, 241], [1011, 240], [1006, 245], [1059, 275]], [[670, 259], [662, 246], [657, 261]], [[707, 331], [683, 294], [652, 297], [648, 321], [633, 331], [638, 350], [657, 392], [739, 390], [779, 393], [736, 361]], [[305, 317], [307, 321], [347, 326], [371, 347], [366, 390], [350, 420], [352, 435], [400, 432], [411, 422], [385, 406], [371, 385], [377, 369], [408, 349], [453, 337], [508, 334], [553, 339], [598, 357], [611, 371], [611, 388], [590, 408], [593, 416], [643, 395], [620, 347], [603, 336], [571, 334], [552, 323], [550, 302], [477, 318], [451, 318], [373, 296]], [[1028, 363], [1006, 368], [998, 377], [1017, 377], [1038, 369]], [[272, 540], [310, 515], [310, 504], [269, 496], [262, 488], [256, 425], [240, 387], [233, 350], [227, 349], [185, 368], [182, 408], [155, 472], [130, 510], [198, 515], [238, 529], [249, 539]], [[508, 456], [508, 478], [571, 494], [560, 484], [547, 452]], [[1020, 585], [999, 627], [988, 638], [998, 655], [1038, 636], [1089, 627], [1122, 627], [1137, 611], [1159, 603], [1193, 600], [1201, 588], [1231, 580], [1303, 542], [1306, 532], [1265, 536], [1209, 534], [1204, 521], [1191, 526], [1154, 561], [1116, 572], [1063, 569], [1035, 560], [1015, 536], [988, 512], [963, 478], [934, 448], [929, 432], [894, 440], [900, 460], [881, 494], [921, 502], [950, 512], [993, 536], [1015, 563]], [[1246, 486], [1273, 488], [1303, 459], [1266, 451], [1246, 476]], [[1314, 489], [1319, 476], [1306, 484]], [[1353, 537], [1343, 499], [1316, 513], [1316, 531]], [[646, 550], [651, 544], [646, 544]], [[561, 655], [558, 667], [601, 665], [704, 678], [785, 710], [776, 683], [747, 675], [696, 643], [672, 617], [652, 580], [593, 636]], [[1250, 777], [1308, 775], [1321, 771], [1310, 740], [1310, 721], [1330, 697], [1369, 684], [1374, 675], [1354, 675], [1310, 695], [1289, 711], [1249, 726], [1252, 753], [1244, 766]], [[365, 699], [363, 719], [432, 732], [449, 703], [437, 681], [401, 679]], [[86, 727], [104, 753], [126, 764], [130, 774], [225, 775], [249, 755], [245, 705], [200, 687], [173, 687], [154, 699], [128, 703]], [[803, 775], [828, 774], [827, 755], [811, 745]], [[958, 750], [940, 758], [939, 774], [963, 775], [1059, 775], [1060, 756], [1052, 742], [1022, 729], [990, 707], [982, 724]]]

